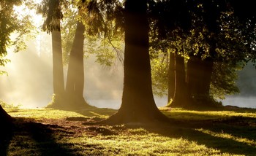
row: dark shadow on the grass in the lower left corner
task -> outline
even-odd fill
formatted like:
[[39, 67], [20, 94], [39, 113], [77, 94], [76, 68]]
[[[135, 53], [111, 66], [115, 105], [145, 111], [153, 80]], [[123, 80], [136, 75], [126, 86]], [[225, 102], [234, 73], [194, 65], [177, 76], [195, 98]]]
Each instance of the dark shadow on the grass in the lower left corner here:
[[44, 125], [18, 118], [12, 137], [5, 142], [5, 155], [72, 155], [72, 144], [57, 142], [61, 135], [68, 136], [58, 125]]

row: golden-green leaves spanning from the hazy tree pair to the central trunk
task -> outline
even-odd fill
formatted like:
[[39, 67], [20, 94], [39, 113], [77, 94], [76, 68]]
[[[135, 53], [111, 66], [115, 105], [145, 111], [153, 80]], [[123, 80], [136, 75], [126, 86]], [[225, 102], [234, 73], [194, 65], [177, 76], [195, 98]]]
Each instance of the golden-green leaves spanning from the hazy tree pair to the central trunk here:
[[[85, 57], [88, 57], [89, 54], [96, 55], [97, 63], [104, 66], [112, 66], [116, 62], [116, 58], [123, 61], [123, 32], [120, 29], [121, 26], [118, 26], [120, 25], [117, 22], [119, 20], [110, 15], [113, 14], [110, 12], [113, 9], [116, 10], [115, 14], [117, 15], [118, 9], [120, 9], [119, 1], [118, 3], [109, 1], [105, 6], [103, 1], [84, 1], [82, 3], [82, 1], [63, 0], [59, 1], [58, 10], [49, 12], [51, 10], [49, 4], [53, 2], [42, 1], [38, 13], [45, 17], [45, 23], [42, 26], [44, 31], [61, 29], [64, 65], [69, 62], [69, 52], [72, 48], [78, 21], [86, 27], [84, 34]], [[54, 3], [57, 5], [58, 1]], [[53, 17], [50, 18], [51, 16]], [[61, 23], [58, 23], [60, 20]]]

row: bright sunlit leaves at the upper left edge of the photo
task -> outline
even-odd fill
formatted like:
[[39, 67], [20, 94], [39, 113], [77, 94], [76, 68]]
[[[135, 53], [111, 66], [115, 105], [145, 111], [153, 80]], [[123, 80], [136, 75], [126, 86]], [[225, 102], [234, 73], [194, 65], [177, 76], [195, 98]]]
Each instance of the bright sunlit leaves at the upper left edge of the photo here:
[[[30, 4], [30, 5], [27, 5]], [[5, 59], [8, 47], [13, 46], [15, 52], [23, 50], [26, 47], [25, 40], [34, 26], [31, 24], [31, 16], [23, 15], [17, 11], [17, 7], [24, 11], [26, 6], [32, 6], [34, 3], [30, 0], [3, 0], [0, 1], [0, 66], [4, 66], [10, 60]], [[0, 71], [0, 74], [5, 74]]]

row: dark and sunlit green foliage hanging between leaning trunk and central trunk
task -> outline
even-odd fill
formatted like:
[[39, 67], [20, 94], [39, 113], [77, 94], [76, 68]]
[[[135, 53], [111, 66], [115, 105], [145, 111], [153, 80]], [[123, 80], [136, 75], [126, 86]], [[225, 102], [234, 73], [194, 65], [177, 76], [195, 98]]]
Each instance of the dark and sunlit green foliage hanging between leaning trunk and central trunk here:
[[96, 62], [113, 66], [123, 61], [124, 31], [121, 1], [89, 1], [83, 4], [81, 19], [86, 26], [86, 55], [96, 55]]

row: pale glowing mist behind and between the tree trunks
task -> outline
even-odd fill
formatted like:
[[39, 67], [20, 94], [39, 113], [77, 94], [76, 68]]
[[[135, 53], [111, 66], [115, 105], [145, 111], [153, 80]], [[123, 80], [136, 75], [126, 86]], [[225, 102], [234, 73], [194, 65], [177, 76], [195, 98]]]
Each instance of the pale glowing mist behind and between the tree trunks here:
[[[9, 52], [7, 58], [11, 62], [0, 67], [0, 70], [8, 73], [8, 76], [0, 76], [0, 99], [23, 108], [40, 108], [47, 106], [53, 95], [50, 35], [42, 33], [37, 39], [28, 42], [27, 46], [24, 51]], [[91, 106], [118, 109], [123, 89], [123, 65], [116, 62], [114, 66], [108, 67], [95, 61], [94, 55], [84, 59], [84, 97]], [[238, 74], [237, 84], [241, 93], [227, 96], [222, 104], [256, 108], [255, 67], [249, 63]], [[64, 79], [66, 76], [67, 66], [64, 66]], [[154, 95], [154, 98], [157, 106], [167, 104], [166, 97]]]

